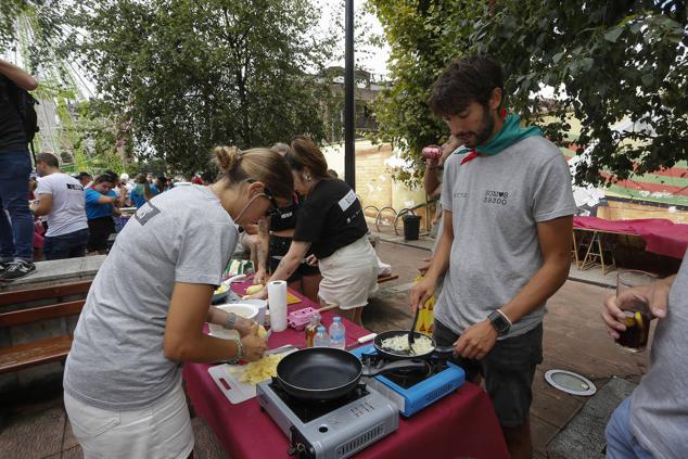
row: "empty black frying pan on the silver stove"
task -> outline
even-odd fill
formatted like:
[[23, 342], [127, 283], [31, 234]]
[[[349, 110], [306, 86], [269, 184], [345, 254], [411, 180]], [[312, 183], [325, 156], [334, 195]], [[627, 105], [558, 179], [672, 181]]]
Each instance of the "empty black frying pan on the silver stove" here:
[[277, 365], [277, 381], [288, 394], [305, 400], [331, 400], [348, 394], [361, 377], [425, 368], [423, 360], [405, 360], [364, 368], [355, 355], [334, 347], [308, 347], [288, 354]]

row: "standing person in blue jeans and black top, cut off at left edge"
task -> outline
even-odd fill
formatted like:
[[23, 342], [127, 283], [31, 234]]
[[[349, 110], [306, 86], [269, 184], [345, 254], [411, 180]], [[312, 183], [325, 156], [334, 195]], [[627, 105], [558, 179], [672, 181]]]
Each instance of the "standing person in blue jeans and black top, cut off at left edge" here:
[[34, 217], [27, 199], [31, 160], [18, 91], [37, 87], [33, 76], [0, 59], [0, 281], [36, 269]]

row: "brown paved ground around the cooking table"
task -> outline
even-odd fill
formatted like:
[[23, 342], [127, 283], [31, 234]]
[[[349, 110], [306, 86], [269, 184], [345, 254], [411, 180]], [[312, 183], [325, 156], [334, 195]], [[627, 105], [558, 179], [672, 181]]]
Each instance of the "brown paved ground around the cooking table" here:
[[[408, 327], [411, 321], [408, 290], [417, 276], [417, 266], [429, 252], [391, 242], [380, 242], [378, 252], [383, 262], [393, 266], [399, 279], [381, 285], [380, 294], [364, 313], [364, 323], [378, 332]], [[588, 276], [595, 275], [588, 272]], [[549, 302], [545, 319], [545, 361], [535, 378], [531, 411], [537, 457], [547, 456], [548, 443], [587, 400], [550, 387], [545, 382], [545, 371], [552, 368], [576, 371], [599, 388], [613, 375], [637, 382], [646, 370], [647, 352], [626, 354], [604, 332], [599, 311], [602, 298], [611, 292], [595, 284], [568, 281]], [[59, 381], [39, 392], [11, 400], [4, 398], [0, 394], [1, 457], [81, 457], [64, 413]], [[578, 443], [584, 442], [586, 438], [582, 435]], [[217, 454], [200, 445], [195, 457], [217, 457]]]

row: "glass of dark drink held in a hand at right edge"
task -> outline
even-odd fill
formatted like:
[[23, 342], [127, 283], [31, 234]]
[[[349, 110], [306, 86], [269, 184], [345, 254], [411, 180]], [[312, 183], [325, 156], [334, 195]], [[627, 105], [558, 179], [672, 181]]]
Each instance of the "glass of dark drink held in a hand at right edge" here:
[[[636, 286], [651, 285], [657, 281], [657, 276], [638, 270], [619, 271], [616, 275], [616, 297], [628, 289]], [[630, 353], [645, 350], [648, 345], [650, 334], [650, 305], [644, 297], [633, 296], [624, 298], [619, 303], [619, 307], [624, 311], [624, 324], [626, 331], [619, 332], [616, 344]]]

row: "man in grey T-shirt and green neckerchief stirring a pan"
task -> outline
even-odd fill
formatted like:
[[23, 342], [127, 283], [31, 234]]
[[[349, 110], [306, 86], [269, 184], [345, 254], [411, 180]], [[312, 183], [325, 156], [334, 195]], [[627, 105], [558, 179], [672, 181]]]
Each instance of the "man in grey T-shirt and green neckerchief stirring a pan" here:
[[[482, 375], [509, 454], [531, 458], [530, 407], [543, 359], [547, 299], [566, 281], [577, 207], [557, 145], [501, 110], [504, 71], [488, 56], [451, 62], [429, 100], [464, 149], [445, 162], [444, 229], [411, 289], [434, 307], [438, 346], [454, 346], [468, 381]], [[446, 275], [446, 276], [445, 276]]]

